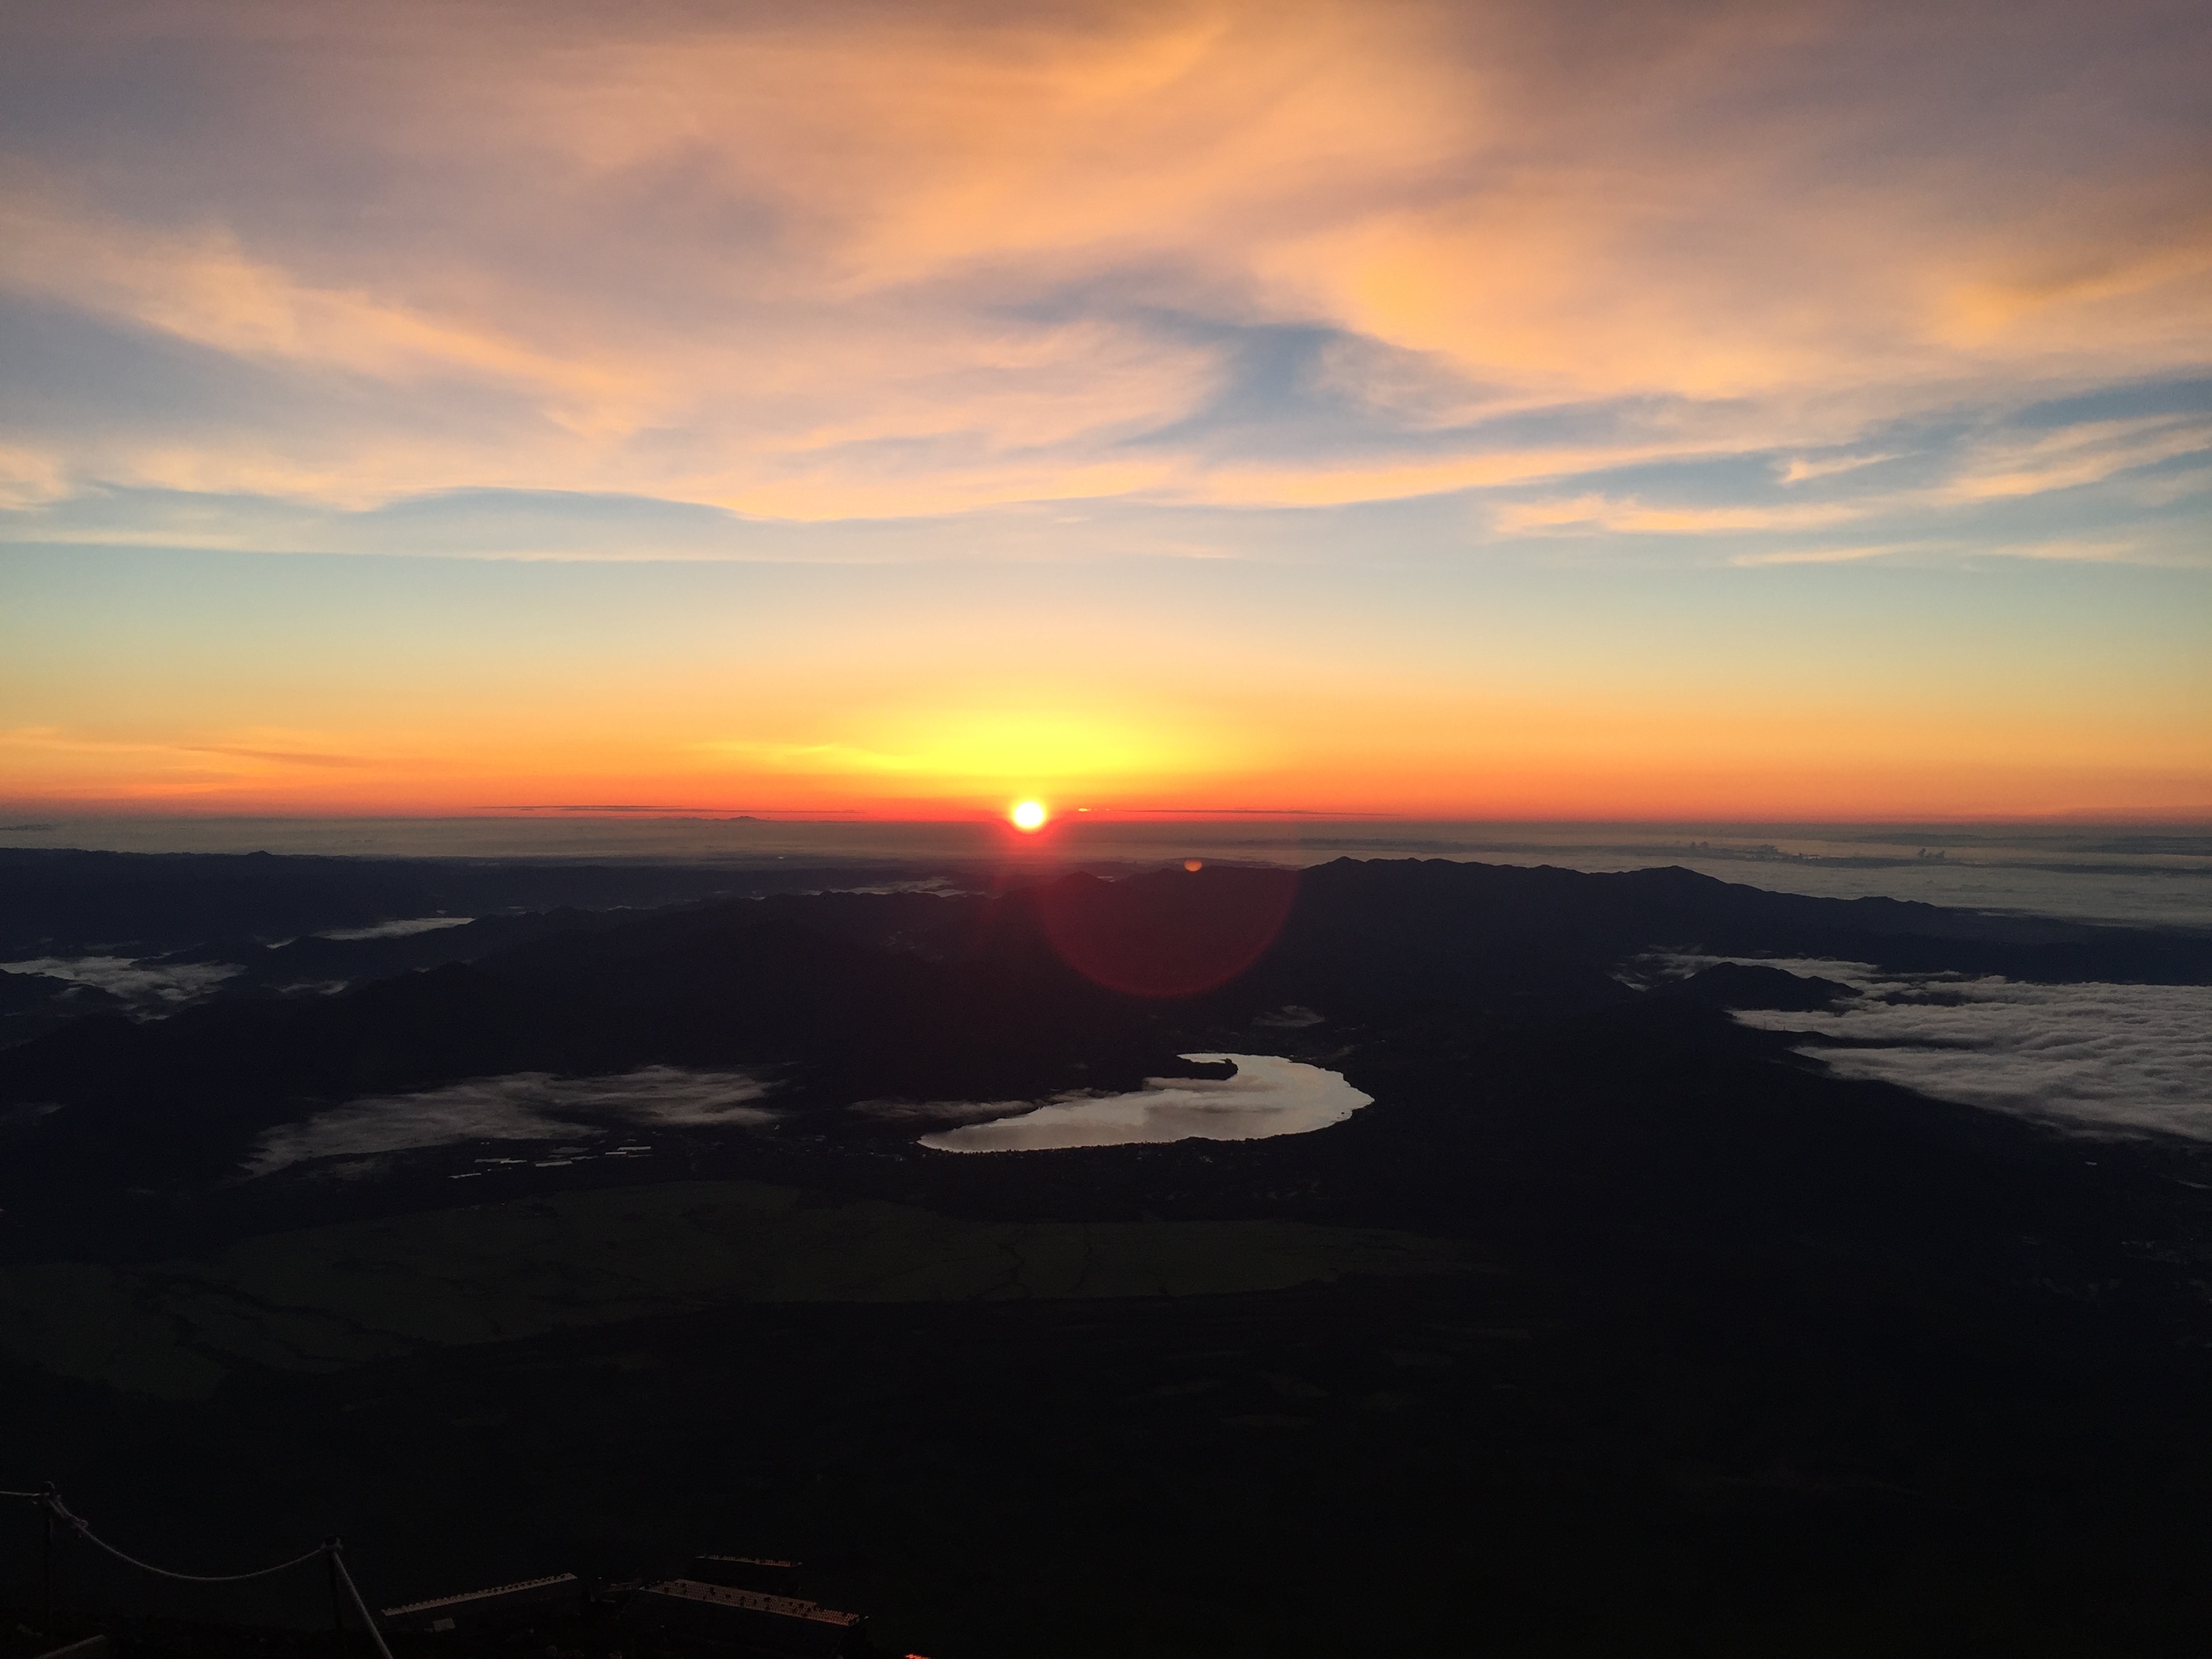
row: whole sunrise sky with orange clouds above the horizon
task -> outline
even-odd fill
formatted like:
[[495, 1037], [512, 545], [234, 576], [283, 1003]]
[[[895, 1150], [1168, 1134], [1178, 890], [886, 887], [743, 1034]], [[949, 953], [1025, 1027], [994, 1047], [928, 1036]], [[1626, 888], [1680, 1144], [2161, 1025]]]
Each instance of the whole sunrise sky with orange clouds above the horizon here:
[[2194, 0], [0, 0], [0, 807], [2212, 816]]

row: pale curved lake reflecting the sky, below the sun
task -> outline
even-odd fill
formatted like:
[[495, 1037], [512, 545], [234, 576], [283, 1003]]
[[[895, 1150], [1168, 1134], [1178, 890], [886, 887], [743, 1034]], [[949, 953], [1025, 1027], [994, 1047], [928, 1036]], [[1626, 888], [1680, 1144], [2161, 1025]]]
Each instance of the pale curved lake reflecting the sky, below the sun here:
[[1343, 1073], [1276, 1055], [1183, 1055], [1234, 1077], [1148, 1077], [1135, 1095], [1060, 1095], [1018, 1117], [922, 1135], [940, 1152], [1037, 1152], [1144, 1141], [1261, 1141], [1343, 1124], [1374, 1095]]

